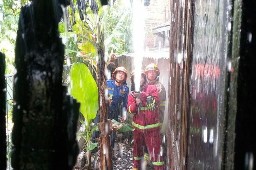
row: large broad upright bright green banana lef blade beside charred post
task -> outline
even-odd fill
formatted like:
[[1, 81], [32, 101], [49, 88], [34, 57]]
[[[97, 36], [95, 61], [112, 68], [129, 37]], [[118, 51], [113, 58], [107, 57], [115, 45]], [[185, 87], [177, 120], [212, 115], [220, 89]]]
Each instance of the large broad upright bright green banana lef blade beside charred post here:
[[74, 63], [69, 72], [71, 95], [81, 103], [80, 112], [87, 124], [98, 110], [98, 88], [90, 70], [83, 63]]

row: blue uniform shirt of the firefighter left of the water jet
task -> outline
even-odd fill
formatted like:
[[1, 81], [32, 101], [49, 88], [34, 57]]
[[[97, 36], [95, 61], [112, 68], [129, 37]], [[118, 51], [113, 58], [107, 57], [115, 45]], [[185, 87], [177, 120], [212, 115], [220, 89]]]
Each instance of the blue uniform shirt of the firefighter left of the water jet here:
[[[120, 108], [126, 111], [129, 87], [125, 84], [122, 84], [121, 86], [116, 86], [114, 80], [107, 80], [106, 85], [108, 89], [108, 94], [112, 96], [113, 100], [108, 110], [109, 119], [115, 119], [116, 121], [118, 121], [118, 113], [120, 112]], [[120, 107], [122, 103], [123, 105], [122, 107]]]

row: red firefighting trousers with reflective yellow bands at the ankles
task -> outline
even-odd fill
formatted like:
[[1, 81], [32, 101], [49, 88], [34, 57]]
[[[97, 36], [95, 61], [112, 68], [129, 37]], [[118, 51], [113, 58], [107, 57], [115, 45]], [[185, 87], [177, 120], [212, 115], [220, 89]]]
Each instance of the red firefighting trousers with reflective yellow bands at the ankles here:
[[140, 160], [144, 158], [144, 146], [146, 145], [154, 169], [165, 170], [163, 157], [160, 153], [161, 141], [159, 129], [152, 131], [139, 131], [135, 129], [133, 131], [133, 137], [133, 168], [140, 169]]

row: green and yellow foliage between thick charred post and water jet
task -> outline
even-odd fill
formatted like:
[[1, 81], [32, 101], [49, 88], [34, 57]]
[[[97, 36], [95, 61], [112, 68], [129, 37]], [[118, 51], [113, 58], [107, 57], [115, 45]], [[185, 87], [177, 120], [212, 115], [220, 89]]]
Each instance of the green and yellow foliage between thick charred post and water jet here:
[[[68, 33], [68, 38], [66, 38], [65, 23], [59, 24], [59, 31], [63, 37], [63, 43], [66, 46], [66, 57], [70, 58], [70, 62], [84, 62], [87, 65], [91, 65], [96, 68], [95, 57], [96, 49], [94, 44], [90, 40], [97, 41], [97, 31], [96, 31], [96, 21], [101, 20], [103, 17], [103, 8], [99, 6], [99, 0], [96, 0], [98, 5], [98, 13], [94, 8], [95, 6], [90, 6], [88, 1], [82, 1], [86, 3], [85, 5], [80, 4], [82, 7], [79, 10], [78, 1], [72, 0], [71, 6], [68, 7], [70, 23], [74, 23], [72, 26], [72, 32]], [[92, 2], [93, 3], [93, 2]], [[109, 55], [111, 51], [115, 54], [124, 54], [132, 52], [132, 40], [131, 40], [131, 8], [126, 6], [124, 1], [117, 0], [113, 6], [109, 6], [107, 10], [107, 15], [105, 19], [104, 27], [104, 46], [106, 48], [105, 55]], [[82, 17], [81, 17], [82, 14]], [[83, 20], [82, 20], [82, 19]], [[88, 38], [85, 38], [88, 37]], [[66, 43], [68, 40], [68, 43]]]

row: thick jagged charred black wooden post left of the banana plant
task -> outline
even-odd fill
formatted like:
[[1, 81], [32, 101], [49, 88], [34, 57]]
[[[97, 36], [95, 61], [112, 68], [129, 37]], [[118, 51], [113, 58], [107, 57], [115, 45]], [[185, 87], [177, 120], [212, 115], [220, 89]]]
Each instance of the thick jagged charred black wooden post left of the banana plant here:
[[64, 46], [60, 5], [33, 0], [20, 12], [14, 76], [11, 163], [14, 169], [72, 169], [78, 146], [79, 103], [62, 86]]

